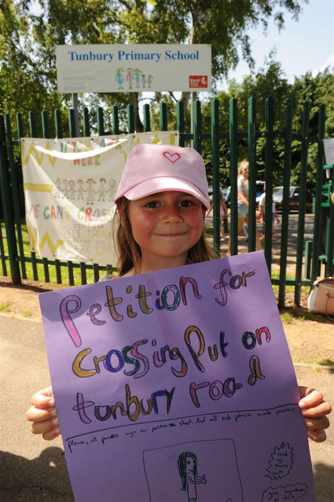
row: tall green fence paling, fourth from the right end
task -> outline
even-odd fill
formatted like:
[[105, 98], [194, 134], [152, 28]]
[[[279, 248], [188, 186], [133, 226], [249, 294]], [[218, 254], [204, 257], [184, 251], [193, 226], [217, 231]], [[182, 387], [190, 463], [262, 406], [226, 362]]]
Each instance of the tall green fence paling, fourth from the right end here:
[[274, 149], [274, 99], [269, 96], [265, 104], [266, 113], [266, 149], [265, 149], [265, 182], [266, 182], [266, 202], [265, 202], [265, 240], [264, 255], [267, 262], [269, 275], [271, 276], [271, 252], [273, 244], [273, 149]]

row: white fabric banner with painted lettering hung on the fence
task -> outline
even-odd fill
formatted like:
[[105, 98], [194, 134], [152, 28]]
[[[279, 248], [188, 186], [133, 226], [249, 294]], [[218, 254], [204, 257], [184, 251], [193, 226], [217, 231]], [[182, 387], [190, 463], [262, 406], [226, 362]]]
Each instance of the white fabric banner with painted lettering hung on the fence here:
[[43, 258], [116, 265], [110, 222], [127, 156], [139, 143], [178, 145], [178, 138], [176, 131], [22, 138], [31, 250]]

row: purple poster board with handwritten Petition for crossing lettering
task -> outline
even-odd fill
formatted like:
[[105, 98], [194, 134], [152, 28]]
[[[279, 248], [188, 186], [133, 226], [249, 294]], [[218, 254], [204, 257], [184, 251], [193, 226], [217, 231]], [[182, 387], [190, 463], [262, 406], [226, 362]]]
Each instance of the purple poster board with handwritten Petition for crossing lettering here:
[[314, 501], [262, 252], [39, 295], [76, 501]]

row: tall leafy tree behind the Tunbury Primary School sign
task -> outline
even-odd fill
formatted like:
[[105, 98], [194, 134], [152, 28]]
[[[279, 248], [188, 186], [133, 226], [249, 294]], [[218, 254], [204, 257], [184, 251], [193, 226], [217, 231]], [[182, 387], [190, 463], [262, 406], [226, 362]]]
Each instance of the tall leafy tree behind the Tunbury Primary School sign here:
[[[39, 0], [40, 14], [30, 9], [32, 0], [3, 0], [0, 5], [0, 98], [3, 109], [39, 110], [66, 107], [69, 95], [56, 91], [55, 46], [62, 44], [116, 43], [210, 43], [212, 75], [215, 84], [238, 63], [237, 48], [254, 65], [250, 27], [261, 23], [266, 29], [274, 17], [279, 28], [284, 25], [282, 9], [298, 19], [306, 0]], [[279, 9], [276, 11], [276, 9]], [[19, 89], [19, 90], [18, 90]], [[28, 89], [28, 92], [26, 91]], [[38, 99], [36, 99], [36, 96]], [[135, 127], [142, 124], [138, 113], [137, 93], [89, 95], [80, 103], [119, 104], [133, 102]], [[189, 93], [182, 100], [188, 103]], [[65, 131], [64, 131], [65, 132]]]

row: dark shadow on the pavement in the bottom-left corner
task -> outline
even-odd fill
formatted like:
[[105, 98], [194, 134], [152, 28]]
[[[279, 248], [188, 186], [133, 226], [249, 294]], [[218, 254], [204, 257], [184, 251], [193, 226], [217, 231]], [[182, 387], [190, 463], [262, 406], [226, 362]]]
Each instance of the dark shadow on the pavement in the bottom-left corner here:
[[74, 500], [63, 450], [49, 447], [27, 460], [1, 452], [1, 498], [11, 502]]

